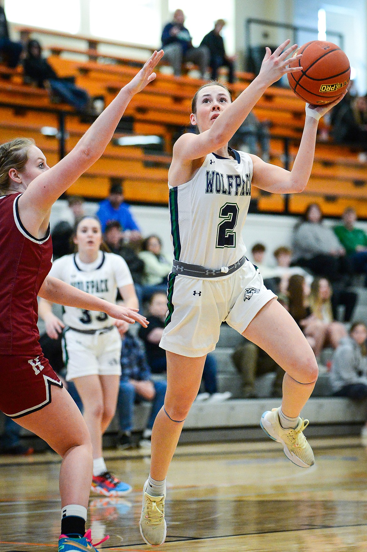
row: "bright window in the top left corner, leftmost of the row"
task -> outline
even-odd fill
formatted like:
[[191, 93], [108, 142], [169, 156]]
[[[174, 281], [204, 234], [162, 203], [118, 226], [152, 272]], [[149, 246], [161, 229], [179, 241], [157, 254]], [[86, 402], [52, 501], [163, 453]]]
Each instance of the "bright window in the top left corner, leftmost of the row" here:
[[79, 0], [5, 0], [4, 8], [12, 23], [72, 34], [80, 28]]

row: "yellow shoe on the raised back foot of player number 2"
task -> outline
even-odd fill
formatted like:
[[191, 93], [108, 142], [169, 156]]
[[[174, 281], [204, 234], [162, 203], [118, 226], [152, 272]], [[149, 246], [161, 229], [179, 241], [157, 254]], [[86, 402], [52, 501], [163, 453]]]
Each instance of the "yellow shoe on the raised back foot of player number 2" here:
[[310, 468], [315, 464], [315, 457], [312, 449], [307, 443], [303, 430], [308, 426], [309, 421], [299, 418], [297, 426], [292, 429], [284, 429], [279, 422], [279, 408], [266, 411], [261, 416], [260, 425], [265, 433], [277, 443], [282, 443], [284, 454], [293, 464], [301, 468]]

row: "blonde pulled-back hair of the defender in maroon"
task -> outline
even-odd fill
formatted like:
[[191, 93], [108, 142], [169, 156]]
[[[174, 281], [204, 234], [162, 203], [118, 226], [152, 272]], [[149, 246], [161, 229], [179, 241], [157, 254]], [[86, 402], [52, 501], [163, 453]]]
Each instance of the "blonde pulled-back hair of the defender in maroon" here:
[[28, 161], [28, 151], [35, 145], [32, 138], [15, 138], [0, 145], [0, 194], [9, 193], [10, 169], [21, 171]]

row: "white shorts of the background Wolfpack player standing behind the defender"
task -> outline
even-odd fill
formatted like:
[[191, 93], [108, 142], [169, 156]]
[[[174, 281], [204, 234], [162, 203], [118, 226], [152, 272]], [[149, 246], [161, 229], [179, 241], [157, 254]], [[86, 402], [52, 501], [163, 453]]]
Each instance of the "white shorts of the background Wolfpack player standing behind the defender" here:
[[68, 328], [62, 349], [67, 381], [89, 375], [121, 375], [121, 337], [116, 327], [94, 335]]

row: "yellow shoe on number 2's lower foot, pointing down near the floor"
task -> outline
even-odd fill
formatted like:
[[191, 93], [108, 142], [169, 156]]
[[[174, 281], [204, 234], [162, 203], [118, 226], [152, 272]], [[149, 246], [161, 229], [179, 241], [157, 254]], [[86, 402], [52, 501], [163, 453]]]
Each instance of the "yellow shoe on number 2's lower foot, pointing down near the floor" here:
[[164, 543], [167, 534], [167, 524], [164, 519], [163, 496], [152, 496], [147, 493], [148, 481], [143, 488], [143, 507], [139, 521], [140, 533], [144, 542], [152, 546], [160, 546]]

